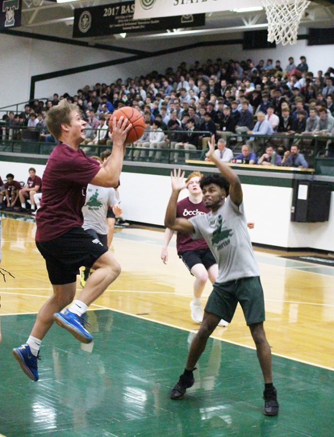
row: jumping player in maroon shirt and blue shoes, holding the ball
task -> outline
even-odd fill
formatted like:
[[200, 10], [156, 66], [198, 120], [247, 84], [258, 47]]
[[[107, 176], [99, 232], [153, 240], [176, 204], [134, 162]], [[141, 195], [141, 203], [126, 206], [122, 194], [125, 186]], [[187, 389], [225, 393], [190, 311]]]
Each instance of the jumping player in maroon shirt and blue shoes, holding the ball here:
[[[125, 128], [127, 121], [123, 117], [118, 122], [113, 119], [113, 151], [100, 167], [80, 149], [86, 122], [80, 117], [78, 106], [64, 99], [48, 112], [48, 129], [59, 144], [51, 152], [43, 174], [43, 197], [36, 214], [36, 246], [45, 258], [53, 294], [39, 310], [27, 343], [13, 349], [21, 369], [33, 381], [38, 380], [40, 344], [53, 321], [83, 343], [90, 343], [93, 337], [84, 327], [83, 314], [120, 273], [108, 248], [83, 230], [81, 209], [89, 183], [106, 187], [118, 184], [124, 141], [132, 127], [130, 123]], [[81, 266], [92, 267], [94, 272], [73, 301]]]

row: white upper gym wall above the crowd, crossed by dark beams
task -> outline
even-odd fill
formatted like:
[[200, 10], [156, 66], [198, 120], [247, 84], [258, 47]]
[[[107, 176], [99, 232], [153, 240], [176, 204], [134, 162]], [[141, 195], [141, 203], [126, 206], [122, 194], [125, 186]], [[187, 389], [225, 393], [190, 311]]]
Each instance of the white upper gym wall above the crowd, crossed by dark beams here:
[[[167, 49], [168, 47], [179, 47], [207, 40], [235, 39], [242, 38], [242, 33], [220, 34], [210, 37], [179, 38], [171, 40], [150, 40], [138, 42], [126, 39], [119, 42], [119, 46], [147, 50], [154, 52]], [[118, 44], [118, 42], [116, 43]], [[80, 67], [89, 64], [96, 64], [131, 56], [126, 53], [119, 53], [109, 50], [98, 50], [94, 47], [85, 48], [71, 46], [68, 44], [41, 41], [31, 38], [0, 35], [0, 107], [14, 104], [29, 99], [31, 77], [37, 74], [50, 73], [52, 71], [66, 68]], [[173, 54], [151, 57], [131, 63], [105, 67], [100, 70], [90, 70], [78, 74], [63, 76], [36, 83], [35, 97], [50, 97], [54, 92], [62, 94], [68, 92], [75, 94], [79, 87], [85, 84], [93, 85], [96, 82], [111, 83], [118, 77], [127, 78], [145, 74], [153, 69], [159, 72], [165, 71], [166, 67], [177, 67], [182, 61], [188, 65], [195, 60], [205, 61], [208, 57], [216, 59], [221, 57], [228, 60], [247, 59], [250, 57], [254, 62], [259, 59], [273, 58], [280, 59], [283, 67], [289, 56], [299, 60], [301, 55], [307, 57], [310, 70], [317, 72], [327, 70], [334, 66], [334, 46], [307, 46], [305, 40], [298, 41], [295, 46], [278, 45], [276, 49], [242, 50], [241, 45], [198, 47], [191, 50], [175, 51]]]

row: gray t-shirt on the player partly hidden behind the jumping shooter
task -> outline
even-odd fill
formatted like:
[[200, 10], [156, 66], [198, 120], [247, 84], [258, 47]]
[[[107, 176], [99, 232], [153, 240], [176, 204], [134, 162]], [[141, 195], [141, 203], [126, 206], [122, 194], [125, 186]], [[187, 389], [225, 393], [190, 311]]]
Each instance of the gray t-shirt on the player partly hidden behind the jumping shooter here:
[[88, 184], [83, 205], [83, 229], [93, 229], [97, 234], [108, 234], [108, 206], [119, 203], [114, 188]]

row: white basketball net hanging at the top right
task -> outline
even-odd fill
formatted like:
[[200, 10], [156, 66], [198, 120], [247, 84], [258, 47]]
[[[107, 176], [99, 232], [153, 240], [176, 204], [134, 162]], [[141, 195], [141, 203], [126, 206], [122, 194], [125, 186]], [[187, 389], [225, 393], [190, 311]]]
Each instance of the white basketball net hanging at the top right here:
[[262, 0], [268, 21], [268, 41], [296, 44], [299, 22], [310, 4], [306, 0]]

